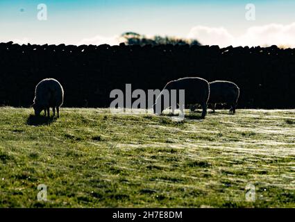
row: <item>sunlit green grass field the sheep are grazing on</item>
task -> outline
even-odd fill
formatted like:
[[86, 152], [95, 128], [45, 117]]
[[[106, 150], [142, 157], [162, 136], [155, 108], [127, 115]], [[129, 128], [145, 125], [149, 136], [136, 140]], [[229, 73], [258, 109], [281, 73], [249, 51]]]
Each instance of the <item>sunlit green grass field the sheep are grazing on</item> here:
[[295, 207], [295, 110], [0, 113], [0, 207]]

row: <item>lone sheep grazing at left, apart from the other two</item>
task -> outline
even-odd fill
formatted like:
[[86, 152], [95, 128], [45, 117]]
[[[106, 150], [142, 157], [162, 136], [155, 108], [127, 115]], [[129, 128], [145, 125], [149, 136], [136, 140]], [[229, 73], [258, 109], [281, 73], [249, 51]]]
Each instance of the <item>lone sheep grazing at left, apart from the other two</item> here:
[[[53, 110], [53, 116], [58, 112], [60, 117], [60, 106], [63, 103], [64, 92], [62, 85], [58, 83], [58, 80], [54, 78], [45, 78], [37, 84], [35, 89], [35, 98], [33, 108], [35, 115], [40, 115], [40, 112], [44, 110], [44, 115], [49, 117], [49, 108]], [[55, 110], [56, 108], [56, 110]]]

